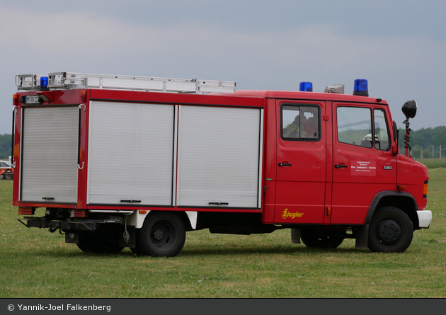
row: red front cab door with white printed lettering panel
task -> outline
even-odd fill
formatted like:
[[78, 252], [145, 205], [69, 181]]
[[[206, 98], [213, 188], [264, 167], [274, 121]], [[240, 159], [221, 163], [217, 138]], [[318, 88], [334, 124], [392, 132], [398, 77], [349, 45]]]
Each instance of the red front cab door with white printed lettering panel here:
[[363, 224], [374, 196], [394, 190], [389, 114], [374, 105], [333, 102], [331, 224]]

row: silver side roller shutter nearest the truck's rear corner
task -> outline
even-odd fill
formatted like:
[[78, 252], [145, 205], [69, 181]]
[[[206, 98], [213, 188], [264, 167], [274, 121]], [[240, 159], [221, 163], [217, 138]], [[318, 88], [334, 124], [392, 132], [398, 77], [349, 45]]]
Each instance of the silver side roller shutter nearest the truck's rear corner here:
[[91, 101], [88, 204], [172, 205], [173, 105]]

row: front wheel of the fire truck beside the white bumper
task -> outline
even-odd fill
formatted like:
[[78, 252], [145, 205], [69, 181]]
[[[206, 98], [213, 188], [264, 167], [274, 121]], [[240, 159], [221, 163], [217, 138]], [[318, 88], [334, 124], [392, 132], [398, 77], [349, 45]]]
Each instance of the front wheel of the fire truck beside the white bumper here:
[[402, 253], [413, 238], [413, 225], [408, 215], [396, 207], [381, 207], [369, 227], [370, 251]]

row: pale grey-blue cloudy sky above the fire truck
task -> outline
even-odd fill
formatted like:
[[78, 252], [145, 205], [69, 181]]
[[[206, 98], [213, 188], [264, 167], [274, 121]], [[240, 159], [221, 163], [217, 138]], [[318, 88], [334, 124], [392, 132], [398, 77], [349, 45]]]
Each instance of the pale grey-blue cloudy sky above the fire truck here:
[[445, 12], [444, 0], [0, 0], [0, 134], [16, 75], [61, 71], [346, 94], [367, 79], [399, 128], [412, 99], [412, 130], [443, 126]]

